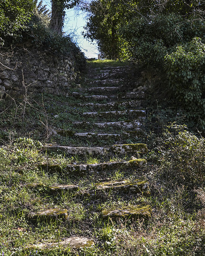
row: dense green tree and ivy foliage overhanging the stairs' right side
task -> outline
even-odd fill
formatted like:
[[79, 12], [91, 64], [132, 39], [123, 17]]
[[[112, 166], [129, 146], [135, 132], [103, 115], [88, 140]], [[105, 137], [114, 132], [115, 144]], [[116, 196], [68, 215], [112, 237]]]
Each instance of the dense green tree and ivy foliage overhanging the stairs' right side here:
[[161, 90], [172, 91], [167, 99], [175, 95], [175, 105], [205, 129], [205, 1], [97, 0], [88, 10], [85, 35], [102, 56], [160, 70], [169, 86]]

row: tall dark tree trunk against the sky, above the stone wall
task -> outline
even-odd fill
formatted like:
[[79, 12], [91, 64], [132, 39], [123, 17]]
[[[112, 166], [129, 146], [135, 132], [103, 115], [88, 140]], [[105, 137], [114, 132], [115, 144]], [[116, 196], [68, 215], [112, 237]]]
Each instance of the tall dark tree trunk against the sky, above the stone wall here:
[[52, 3], [52, 17], [50, 20], [50, 28], [58, 34], [62, 34], [65, 9], [73, 8], [78, 4], [79, 0], [50, 0]]

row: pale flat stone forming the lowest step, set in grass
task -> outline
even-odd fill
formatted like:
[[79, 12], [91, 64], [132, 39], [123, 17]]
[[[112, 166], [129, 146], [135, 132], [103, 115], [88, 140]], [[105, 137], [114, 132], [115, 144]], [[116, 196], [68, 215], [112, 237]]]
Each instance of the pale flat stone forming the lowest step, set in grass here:
[[80, 249], [85, 247], [94, 246], [94, 241], [86, 237], [70, 237], [66, 238], [63, 241], [57, 243], [40, 243], [34, 245], [28, 245], [24, 247], [24, 250], [48, 250], [53, 248], [60, 247], [64, 248], [73, 248]]

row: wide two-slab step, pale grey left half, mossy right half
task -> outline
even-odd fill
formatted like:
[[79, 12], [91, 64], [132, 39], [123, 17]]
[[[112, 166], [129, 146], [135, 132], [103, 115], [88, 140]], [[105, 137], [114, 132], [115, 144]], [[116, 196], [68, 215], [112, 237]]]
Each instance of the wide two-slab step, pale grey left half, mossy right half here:
[[[119, 155], [126, 155], [131, 153], [147, 153], [147, 145], [138, 144], [118, 144], [111, 147], [70, 147], [70, 146], [44, 146], [44, 149], [51, 152], [65, 152], [68, 155], [100, 155], [107, 153], [116, 153]], [[75, 186], [75, 185], [73, 185]]]

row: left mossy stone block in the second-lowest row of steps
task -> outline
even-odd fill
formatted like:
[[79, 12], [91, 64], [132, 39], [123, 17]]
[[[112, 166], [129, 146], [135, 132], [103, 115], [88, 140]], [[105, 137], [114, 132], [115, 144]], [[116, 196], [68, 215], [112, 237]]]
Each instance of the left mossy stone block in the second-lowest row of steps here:
[[63, 208], [53, 208], [38, 211], [31, 214], [30, 219], [33, 222], [53, 221], [53, 220], [66, 220], [68, 218], [68, 210]]

